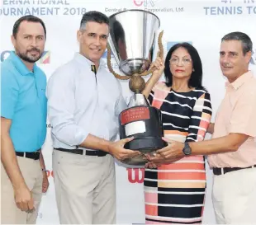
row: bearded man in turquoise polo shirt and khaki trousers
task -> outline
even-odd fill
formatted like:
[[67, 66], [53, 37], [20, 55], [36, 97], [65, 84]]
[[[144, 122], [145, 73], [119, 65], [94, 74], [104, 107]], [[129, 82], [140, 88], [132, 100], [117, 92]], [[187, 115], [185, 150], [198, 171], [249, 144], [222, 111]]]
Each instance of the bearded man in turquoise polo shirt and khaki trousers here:
[[23, 16], [12, 30], [15, 51], [1, 65], [1, 223], [36, 223], [48, 189], [40, 148], [46, 135], [46, 77], [36, 61], [45, 24]]

